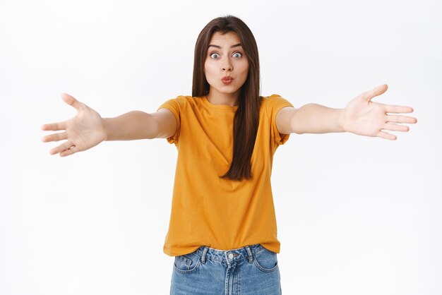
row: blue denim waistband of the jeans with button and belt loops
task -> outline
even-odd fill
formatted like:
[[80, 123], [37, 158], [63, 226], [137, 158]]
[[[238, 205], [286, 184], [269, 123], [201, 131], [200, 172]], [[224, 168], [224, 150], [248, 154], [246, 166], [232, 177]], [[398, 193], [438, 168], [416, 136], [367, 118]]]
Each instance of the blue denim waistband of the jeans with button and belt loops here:
[[201, 263], [205, 263], [205, 260], [216, 260], [230, 264], [246, 258], [251, 263], [253, 262], [253, 255], [263, 248], [259, 243], [232, 250], [218, 250], [208, 246], [201, 246], [195, 253], [201, 256]]

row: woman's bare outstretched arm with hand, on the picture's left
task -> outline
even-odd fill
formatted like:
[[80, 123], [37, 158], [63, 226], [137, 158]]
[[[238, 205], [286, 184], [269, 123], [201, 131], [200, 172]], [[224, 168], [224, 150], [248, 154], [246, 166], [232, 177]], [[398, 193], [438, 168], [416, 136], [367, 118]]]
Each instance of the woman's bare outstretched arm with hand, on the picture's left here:
[[42, 138], [43, 142], [66, 140], [49, 151], [61, 157], [74, 152], [88, 150], [104, 140], [136, 140], [144, 138], [166, 138], [177, 128], [175, 116], [168, 109], [160, 109], [155, 114], [132, 111], [116, 118], [102, 118], [95, 110], [71, 95], [61, 95], [64, 102], [77, 110], [77, 115], [67, 121], [44, 124], [44, 131], [64, 131]]

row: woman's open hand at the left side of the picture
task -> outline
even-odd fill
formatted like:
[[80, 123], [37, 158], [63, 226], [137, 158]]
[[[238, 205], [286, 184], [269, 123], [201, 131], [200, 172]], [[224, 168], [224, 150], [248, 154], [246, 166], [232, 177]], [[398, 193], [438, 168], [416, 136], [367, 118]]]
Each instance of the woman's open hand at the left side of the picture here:
[[42, 138], [44, 143], [66, 140], [65, 143], [50, 150], [50, 155], [59, 153], [60, 157], [66, 157], [74, 152], [88, 150], [106, 140], [107, 133], [100, 114], [67, 93], [63, 93], [61, 98], [64, 102], [76, 108], [77, 115], [68, 121], [44, 124], [41, 127], [44, 131], [64, 130], [64, 132], [53, 133]]

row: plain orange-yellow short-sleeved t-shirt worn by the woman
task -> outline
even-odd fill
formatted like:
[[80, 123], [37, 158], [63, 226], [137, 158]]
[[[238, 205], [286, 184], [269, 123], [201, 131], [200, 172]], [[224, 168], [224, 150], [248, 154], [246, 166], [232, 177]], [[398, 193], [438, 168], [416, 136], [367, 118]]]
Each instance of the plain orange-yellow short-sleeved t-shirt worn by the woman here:
[[280, 253], [270, 186], [273, 154], [289, 135], [276, 128], [276, 114], [293, 105], [280, 97], [263, 97], [251, 157], [252, 179], [221, 179], [232, 162], [233, 119], [237, 106], [212, 104], [204, 97], [179, 96], [167, 108], [177, 132], [167, 138], [178, 150], [172, 212], [163, 251], [184, 255], [201, 246], [220, 250], [255, 243]]

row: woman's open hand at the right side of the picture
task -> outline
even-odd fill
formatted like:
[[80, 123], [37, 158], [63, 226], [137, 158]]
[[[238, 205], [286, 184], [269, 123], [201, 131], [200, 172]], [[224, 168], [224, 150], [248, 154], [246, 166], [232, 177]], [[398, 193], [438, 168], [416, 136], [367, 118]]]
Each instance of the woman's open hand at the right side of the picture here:
[[396, 136], [382, 130], [409, 131], [408, 126], [395, 123], [414, 124], [417, 122], [416, 118], [391, 114], [411, 113], [413, 112], [411, 107], [380, 104], [371, 101], [373, 97], [383, 94], [387, 89], [388, 85], [379, 85], [351, 100], [342, 110], [342, 128], [361, 136], [378, 136], [390, 140], [395, 140]]

